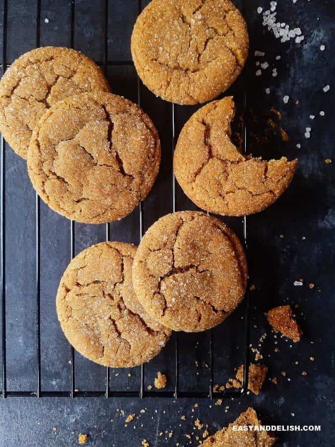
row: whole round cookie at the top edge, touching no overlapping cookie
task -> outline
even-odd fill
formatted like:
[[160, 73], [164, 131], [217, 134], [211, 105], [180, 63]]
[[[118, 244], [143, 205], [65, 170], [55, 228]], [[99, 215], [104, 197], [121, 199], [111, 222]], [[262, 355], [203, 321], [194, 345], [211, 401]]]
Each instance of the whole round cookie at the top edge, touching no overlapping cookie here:
[[136, 71], [155, 95], [198, 104], [225, 91], [242, 72], [249, 39], [229, 0], [153, 0], [132, 34]]

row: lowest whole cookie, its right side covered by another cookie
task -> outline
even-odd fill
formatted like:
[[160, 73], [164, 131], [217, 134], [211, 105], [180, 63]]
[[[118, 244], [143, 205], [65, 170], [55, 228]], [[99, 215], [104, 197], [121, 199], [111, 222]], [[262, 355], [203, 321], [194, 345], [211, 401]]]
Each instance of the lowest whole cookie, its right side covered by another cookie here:
[[134, 294], [136, 247], [102, 242], [67, 266], [56, 306], [63, 332], [80, 354], [113, 368], [141, 365], [155, 357], [171, 331], [144, 311]]

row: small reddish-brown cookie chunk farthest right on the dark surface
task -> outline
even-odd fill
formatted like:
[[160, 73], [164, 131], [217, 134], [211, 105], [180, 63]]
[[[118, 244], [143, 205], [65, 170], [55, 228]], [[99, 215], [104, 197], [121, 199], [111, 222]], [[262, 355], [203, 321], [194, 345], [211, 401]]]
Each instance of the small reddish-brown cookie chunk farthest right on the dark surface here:
[[275, 332], [281, 332], [285, 337], [292, 339], [294, 342], [300, 341], [303, 332], [296, 322], [289, 304], [274, 307], [269, 310], [267, 318]]

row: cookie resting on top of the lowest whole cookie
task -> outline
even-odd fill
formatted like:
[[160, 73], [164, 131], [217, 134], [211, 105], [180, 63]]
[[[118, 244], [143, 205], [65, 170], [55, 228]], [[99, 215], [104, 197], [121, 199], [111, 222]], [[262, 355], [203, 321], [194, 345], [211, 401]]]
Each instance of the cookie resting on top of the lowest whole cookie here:
[[221, 323], [241, 302], [247, 262], [235, 233], [219, 219], [168, 214], [143, 236], [133, 264], [134, 291], [146, 312], [175, 331]]

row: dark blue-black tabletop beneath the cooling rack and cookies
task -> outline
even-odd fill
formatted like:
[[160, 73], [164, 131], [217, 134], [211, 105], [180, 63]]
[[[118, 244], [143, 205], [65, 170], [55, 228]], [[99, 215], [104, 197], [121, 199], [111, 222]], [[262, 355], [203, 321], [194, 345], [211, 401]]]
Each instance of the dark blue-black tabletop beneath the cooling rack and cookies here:
[[[248, 149], [254, 155], [275, 158], [298, 157], [297, 174], [288, 191], [268, 210], [247, 218], [250, 294], [251, 343], [258, 347], [259, 338], [267, 337], [260, 348], [269, 367], [268, 377], [276, 376], [278, 384], [267, 380], [259, 396], [224, 399], [214, 405], [209, 399], [145, 398], [49, 398], [7, 397], [0, 401], [0, 443], [3, 446], [67, 446], [77, 442], [80, 432], [90, 434], [90, 445], [140, 446], [147, 439], [150, 446], [192, 445], [199, 443], [194, 419], [208, 424], [214, 433], [235, 419], [248, 406], [254, 406], [262, 420], [274, 424], [321, 425], [321, 432], [286, 432], [278, 436], [279, 446], [333, 446], [334, 435], [334, 4], [326, 0], [280, 2], [277, 15], [293, 27], [300, 26], [305, 36], [301, 44], [281, 44], [262, 26], [257, 7], [268, 8], [267, 1], [248, 1], [248, 25], [251, 40], [248, 72], [241, 76], [228, 94], [234, 94], [239, 106], [243, 103], [243, 87], [247, 86]], [[279, 3], [279, 2], [278, 2]], [[6, 11], [6, 46], [1, 55], [10, 64], [21, 53], [41, 45], [66, 45], [87, 53], [103, 65], [108, 61], [108, 78], [112, 91], [137, 101], [137, 76], [130, 55], [130, 35], [139, 2], [108, 2], [108, 40], [105, 46], [105, 1], [0, 1]], [[240, 7], [243, 2], [236, 2]], [[36, 34], [36, 14], [41, 5], [40, 35]], [[45, 22], [45, 18], [49, 20]], [[71, 18], [73, 21], [71, 22]], [[73, 26], [73, 27], [72, 27]], [[74, 31], [71, 39], [71, 30]], [[326, 50], [320, 51], [324, 44]], [[0, 43], [2, 45], [2, 42]], [[0, 48], [2, 50], [2, 48]], [[270, 67], [256, 77], [254, 51], [265, 51], [263, 60]], [[275, 57], [281, 56], [280, 61]], [[111, 62], [111, 63], [110, 63]], [[114, 62], [114, 64], [112, 64]], [[106, 67], [107, 64], [105, 64]], [[278, 76], [272, 77], [272, 67]], [[324, 93], [322, 88], [331, 85]], [[265, 88], [270, 88], [270, 94]], [[283, 96], [289, 95], [288, 104]], [[295, 101], [299, 100], [296, 105]], [[155, 122], [162, 143], [162, 164], [158, 180], [142, 205], [142, 227], [145, 230], [160, 216], [173, 210], [172, 183], [172, 105], [156, 98], [141, 85], [140, 104]], [[273, 132], [266, 132], [270, 107], [282, 113], [281, 126], [290, 140], [283, 143]], [[195, 107], [175, 106], [175, 134], [178, 136]], [[252, 112], [250, 112], [252, 110]], [[319, 111], [325, 116], [319, 116]], [[315, 115], [314, 120], [309, 116]], [[256, 119], [255, 119], [256, 117]], [[257, 143], [254, 133], [268, 135]], [[264, 126], [264, 127], [263, 127]], [[306, 127], [312, 127], [311, 138], [304, 138]], [[267, 126], [268, 128], [268, 126]], [[301, 144], [301, 149], [296, 144]], [[36, 357], [36, 195], [32, 189], [25, 161], [5, 145], [4, 172], [4, 280], [6, 335], [6, 390], [37, 391]], [[333, 160], [334, 161], [334, 160]], [[175, 209], [194, 209], [176, 184]], [[242, 219], [223, 219], [242, 237]], [[74, 252], [106, 239], [138, 243], [139, 207], [126, 219], [106, 225], [74, 225]], [[41, 202], [40, 205], [40, 321], [41, 321], [41, 389], [70, 391], [70, 348], [56, 318], [55, 296], [60, 277], [71, 256], [70, 222], [58, 216]], [[280, 237], [283, 235], [284, 237]], [[294, 281], [304, 279], [302, 287]], [[314, 283], [314, 289], [308, 287]], [[305, 335], [299, 344], [274, 339], [263, 312], [271, 306], [289, 302], [298, 304], [297, 317]], [[243, 359], [243, 305], [213, 331], [214, 383], [225, 383]], [[254, 325], [256, 327], [254, 327]], [[274, 345], [277, 341], [278, 344]], [[208, 392], [210, 381], [210, 332], [179, 335], [179, 388], [182, 391]], [[290, 347], [292, 345], [292, 347]], [[279, 352], [274, 352], [277, 346]], [[2, 346], [0, 346], [2, 348]], [[310, 357], [314, 357], [312, 362]], [[251, 353], [251, 359], [254, 354]], [[196, 367], [198, 362], [199, 367]], [[296, 365], [295, 362], [298, 362]], [[175, 337], [166, 349], [144, 368], [144, 386], [153, 384], [157, 371], [168, 376], [166, 390], [175, 390]], [[280, 374], [286, 372], [286, 376]], [[301, 372], [306, 371], [307, 376]], [[75, 387], [80, 392], [105, 392], [106, 370], [75, 354]], [[128, 374], [131, 373], [131, 377]], [[116, 375], [119, 374], [119, 375]], [[288, 381], [288, 378], [291, 380]], [[110, 392], [138, 391], [140, 369], [110, 371]], [[2, 376], [0, 376], [0, 384]], [[199, 407], [194, 407], [199, 403]], [[211, 406], [211, 407], [210, 407]], [[225, 407], [229, 406], [225, 412]], [[123, 409], [125, 416], [120, 414]], [[146, 409], [145, 413], [140, 413]], [[135, 413], [128, 427], [128, 414]], [[291, 416], [291, 413], [294, 416]], [[180, 420], [181, 415], [186, 420]], [[73, 422], [73, 419], [75, 421]], [[181, 424], [181, 426], [180, 426]], [[134, 429], [134, 425], [136, 429]], [[142, 426], [141, 426], [142, 425]], [[54, 428], [56, 428], [54, 430]], [[173, 431], [165, 439], [165, 431]], [[73, 434], [72, 434], [73, 432]], [[159, 433], [163, 432], [162, 436]]]

